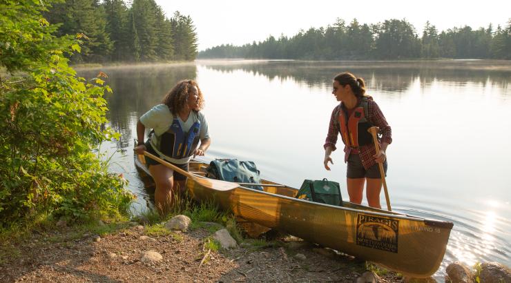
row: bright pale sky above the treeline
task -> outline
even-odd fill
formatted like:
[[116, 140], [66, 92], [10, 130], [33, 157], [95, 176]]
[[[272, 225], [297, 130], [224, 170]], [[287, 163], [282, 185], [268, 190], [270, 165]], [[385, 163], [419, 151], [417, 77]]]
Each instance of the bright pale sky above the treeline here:
[[175, 10], [189, 15], [197, 28], [199, 50], [222, 43], [242, 45], [262, 41], [273, 35], [289, 37], [300, 29], [320, 28], [333, 24], [336, 18], [347, 23], [378, 23], [385, 19], [407, 19], [422, 34], [426, 21], [438, 31], [470, 26], [488, 27], [492, 23], [505, 26], [511, 18], [511, 1], [450, 0], [156, 0], [167, 17]]

